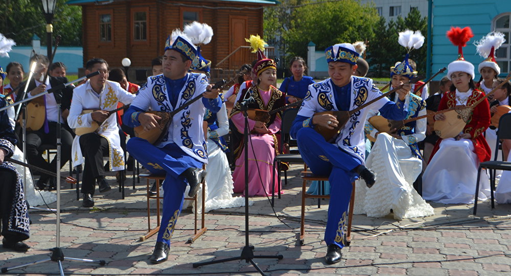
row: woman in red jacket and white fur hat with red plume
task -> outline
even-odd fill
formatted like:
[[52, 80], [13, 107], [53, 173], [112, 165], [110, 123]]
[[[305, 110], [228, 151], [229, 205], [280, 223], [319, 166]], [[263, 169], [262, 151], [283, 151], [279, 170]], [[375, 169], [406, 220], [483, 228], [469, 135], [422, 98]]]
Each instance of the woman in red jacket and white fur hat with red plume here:
[[[457, 38], [458, 29], [448, 31], [451, 41], [460, 41]], [[447, 77], [453, 85], [440, 100], [438, 110], [456, 105], [471, 106], [484, 96], [484, 93], [477, 90], [474, 85], [474, 65], [463, 59], [461, 47], [458, 48], [459, 58], [449, 63], [447, 67]], [[445, 114], [434, 116], [435, 120], [446, 118]], [[456, 137], [438, 139], [436, 142], [423, 175], [424, 199], [442, 204], [474, 203], [479, 162], [489, 161], [491, 153], [483, 136], [484, 131], [490, 126], [490, 105], [487, 99], [473, 109], [468, 121], [463, 131]], [[481, 189], [476, 200], [485, 200], [490, 195], [490, 183], [485, 173], [481, 174], [480, 184]]]

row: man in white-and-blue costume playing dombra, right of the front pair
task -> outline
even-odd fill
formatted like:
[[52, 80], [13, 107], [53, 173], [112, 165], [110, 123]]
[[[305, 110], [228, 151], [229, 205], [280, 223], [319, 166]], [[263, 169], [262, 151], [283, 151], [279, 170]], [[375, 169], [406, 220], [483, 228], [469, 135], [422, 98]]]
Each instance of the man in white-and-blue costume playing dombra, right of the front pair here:
[[363, 129], [367, 112], [380, 110], [383, 116], [400, 120], [407, 115], [405, 95], [410, 85], [398, 89], [398, 103], [381, 98], [351, 116], [335, 143], [327, 142], [314, 126], [333, 130], [337, 117], [316, 114], [322, 111], [349, 111], [381, 95], [373, 80], [352, 76], [357, 69], [359, 54], [350, 43], [330, 46], [325, 51], [330, 78], [309, 86], [308, 95], [293, 122], [291, 136], [297, 139], [300, 154], [316, 175], [329, 175], [330, 206], [324, 240], [328, 245], [325, 260], [329, 264], [341, 260], [344, 224], [350, 202], [352, 182], [361, 177], [371, 186], [376, 175], [364, 166]]

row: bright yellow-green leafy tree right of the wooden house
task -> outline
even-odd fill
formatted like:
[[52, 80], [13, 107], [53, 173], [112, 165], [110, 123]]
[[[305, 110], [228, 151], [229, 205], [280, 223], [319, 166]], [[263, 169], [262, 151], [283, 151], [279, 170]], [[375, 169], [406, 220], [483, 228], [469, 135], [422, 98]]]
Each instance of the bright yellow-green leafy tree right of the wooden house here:
[[336, 43], [373, 39], [379, 20], [373, 5], [355, 0], [307, 3], [291, 12], [290, 28], [283, 34], [289, 56], [305, 57], [309, 41], [325, 49]]

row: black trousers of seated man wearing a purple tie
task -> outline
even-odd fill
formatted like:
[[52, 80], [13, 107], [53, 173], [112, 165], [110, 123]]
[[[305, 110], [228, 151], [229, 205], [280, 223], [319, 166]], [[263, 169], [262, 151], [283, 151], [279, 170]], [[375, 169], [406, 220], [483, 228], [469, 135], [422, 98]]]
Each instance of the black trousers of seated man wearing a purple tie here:
[[[46, 162], [42, 157], [44, 150], [41, 150], [41, 145], [57, 144], [57, 122], [48, 122], [50, 131], [44, 133], [41, 128], [38, 131], [27, 132], [27, 160], [31, 165], [40, 167], [45, 170], [57, 172], [57, 159], [54, 158], [51, 163]], [[71, 159], [71, 146], [73, 145], [73, 135], [62, 124], [61, 126], [61, 148], [60, 148], [60, 168], [62, 168], [69, 159]], [[59, 169], [60, 169], [59, 168]], [[42, 180], [47, 180], [48, 175], [41, 175]]]

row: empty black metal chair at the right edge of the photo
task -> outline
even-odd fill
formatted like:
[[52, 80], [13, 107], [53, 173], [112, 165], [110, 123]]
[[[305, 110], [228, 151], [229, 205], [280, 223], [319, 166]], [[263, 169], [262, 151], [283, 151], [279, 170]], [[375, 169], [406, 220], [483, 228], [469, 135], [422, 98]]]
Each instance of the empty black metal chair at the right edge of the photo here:
[[477, 212], [477, 194], [479, 193], [479, 177], [481, 175], [481, 169], [489, 169], [490, 170], [490, 193], [492, 199], [492, 209], [495, 208], [493, 191], [495, 190], [495, 178], [496, 173], [495, 170], [511, 170], [511, 162], [505, 161], [497, 161], [497, 156], [499, 155], [499, 145], [500, 139], [511, 139], [511, 113], [504, 114], [500, 117], [499, 120], [499, 129], [497, 131], [497, 143], [495, 145], [495, 157], [493, 161], [482, 162], [479, 164], [479, 168], [477, 170], [477, 180], [476, 180], [476, 192], [474, 195], [474, 215]]

